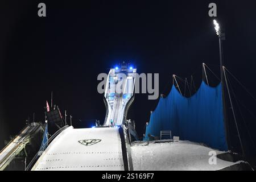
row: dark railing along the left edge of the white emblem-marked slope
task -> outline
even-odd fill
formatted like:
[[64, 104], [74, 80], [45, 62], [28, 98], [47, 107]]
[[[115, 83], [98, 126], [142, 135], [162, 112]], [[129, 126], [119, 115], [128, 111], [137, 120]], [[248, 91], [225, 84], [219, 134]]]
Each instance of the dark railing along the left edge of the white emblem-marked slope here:
[[34, 156], [34, 158], [31, 160], [31, 162], [28, 164], [28, 166], [26, 167], [25, 171], [29, 171], [32, 167], [32, 165], [35, 164], [35, 161], [37, 159], [39, 159], [39, 157], [41, 156], [40, 152], [46, 150], [47, 146], [49, 143], [52, 142], [53, 139], [55, 139], [55, 137], [57, 137], [57, 135], [59, 135], [62, 131], [64, 131], [65, 129], [67, 129], [69, 126], [66, 125], [64, 127], [62, 127], [61, 129], [59, 129], [58, 131], [55, 132], [55, 134], [53, 134], [49, 139], [48, 139], [48, 142], [43, 144], [42, 147], [40, 147], [39, 151], [36, 153], [36, 155]]

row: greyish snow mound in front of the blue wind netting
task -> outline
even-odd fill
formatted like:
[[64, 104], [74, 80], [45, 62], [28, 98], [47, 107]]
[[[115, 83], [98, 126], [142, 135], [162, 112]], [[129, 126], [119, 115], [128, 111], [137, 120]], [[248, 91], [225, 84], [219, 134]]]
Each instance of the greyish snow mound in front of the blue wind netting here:
[[153, 143], [133, 143], [131, 154], [133, 168], [135, 171], [213, 171], [232, 166], [233, 162], [227, 162], [217, 158], [217, 164], [209, 164], [209, 152], [216, 151], [216, 154], [224, 153], [212, 148], [205, 147], [199, 143], [189, 141]]

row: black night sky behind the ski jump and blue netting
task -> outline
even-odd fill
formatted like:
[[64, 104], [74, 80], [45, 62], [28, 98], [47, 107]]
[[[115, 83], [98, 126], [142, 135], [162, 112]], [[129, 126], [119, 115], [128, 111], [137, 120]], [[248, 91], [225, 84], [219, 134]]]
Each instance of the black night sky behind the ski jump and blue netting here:
[[[45, 18], [38, 16], [40, 2], [46, 3]], [[193, 75], [198, 88], [203, 62], [219, 76], [210, 2], [217, 4], [216, 19], [226, 34], [225, 66], [256, 97], [255, 0], [1, 1], [0, 147], [24, 127], [28, 116], [32, 120], [32, 113], [43, 121], [51, 91], [54, 104], [73, 115], [74, 125], [77, 119], [84, 127], [94, 119], [103, 123], [106, 111], [97, 75], [122, 61], [135, 65], [138, 73], [159, 73], [164, 94], [170, 92], [172, 74], [189, 80]], [[209, 81], [218, 84], [210, 72]], [[256, 143], [256, 101], [232, 77], [230, 82], [246, 106], [241, 113]], [[147, 100], [147, 94], [135, 95], [129, 118], [135, 120], [139, 137], [157, 103]], [[236, 112], [240, 115], [238, 107]], [[241, 116], [238, 122], [242, 139], [251, 141]], [[231, 135], [237, 145], [236, 130]]]

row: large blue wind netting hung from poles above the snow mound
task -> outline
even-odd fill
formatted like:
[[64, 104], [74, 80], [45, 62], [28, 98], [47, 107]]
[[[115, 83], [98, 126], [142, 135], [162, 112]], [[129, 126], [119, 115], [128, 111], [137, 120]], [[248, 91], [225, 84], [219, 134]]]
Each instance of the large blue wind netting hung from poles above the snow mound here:
[[144, 139], [148, 139], [148, 134], [160, 136], [160, 131], [167, 130], [181, 140], [227, 151], [221, 84], [213, 88], [202, 81], [199, 90], [189, 98], [181, 96], [173, 85], [151, 113]]

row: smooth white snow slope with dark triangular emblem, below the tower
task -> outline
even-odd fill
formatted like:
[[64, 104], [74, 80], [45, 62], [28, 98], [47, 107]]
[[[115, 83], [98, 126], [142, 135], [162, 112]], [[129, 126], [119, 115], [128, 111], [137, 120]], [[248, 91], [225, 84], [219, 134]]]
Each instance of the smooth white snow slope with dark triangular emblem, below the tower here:
[[[126, 154], [125, 154], [126, 155]], [[62, 131], [32, 170], [125, 170], [118, 127]]]

